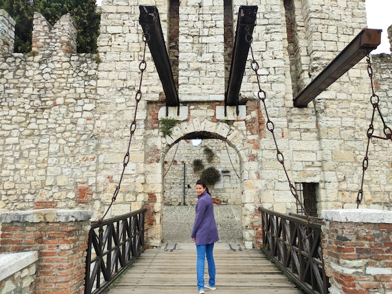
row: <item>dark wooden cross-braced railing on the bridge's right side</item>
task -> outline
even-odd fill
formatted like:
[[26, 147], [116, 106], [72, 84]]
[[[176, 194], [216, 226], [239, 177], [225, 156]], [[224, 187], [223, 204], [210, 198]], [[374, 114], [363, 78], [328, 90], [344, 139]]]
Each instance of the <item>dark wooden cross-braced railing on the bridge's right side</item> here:
[[[307, 293], [329, 293], [321, 248], [321, 223], [259, 208], [263, 222], [261, 250]], [[307, 227], [307, 230], [306, 230]]]

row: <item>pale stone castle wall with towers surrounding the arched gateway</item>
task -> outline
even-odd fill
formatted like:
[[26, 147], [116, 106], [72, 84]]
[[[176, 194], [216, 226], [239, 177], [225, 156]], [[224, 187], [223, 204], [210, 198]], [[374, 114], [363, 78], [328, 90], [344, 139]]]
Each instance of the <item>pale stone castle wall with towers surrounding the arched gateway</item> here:
[[[295, 212], [296, 205], [285, 171], [276, 160], [263, 103], [254, 95], [259, 87], [250, 60], [240, 91], [247, 100], [241, 105], [241, 116], [233, 115], [230, 107], [228, 117], [219, 116], [227, 68], [224, 23], [230, 19], [224, 16], [228, 11], [224, 5], [228, 3], [180, 1], [178, 18], [171, 20], [168, 16], [176, 15], [171, 11], [175, 6], [166, 1], [147, 2], [103, 1], [97, 55], [73, 53], [75, 35], [68, 16], [50, 27], [38, 14], [33, 51], [0, 52], [0, 208], [77, 208], [93, 210], [96, 219], [109, 207], [122, 177], [107, 217], [147, 207], [147, 240], [159, 246], [166, 189], [182, 194], [175, 181], [183, 177], [180, 162], [192, 162], [193, 156], [201, 154], [200, 148], [198, 153], [193, 146], [184, 147], [189, 145], [185, 139], [203, 134], [211, 142], [217, 140], [213, 147], [221, 154], [219, 159], [226, 161], [219, 161], [222, 168], [228, 165], [224, 144], [236, 158], [240, 179], [230, 172], [235, 196], [226, 197], [217, 188], [212, 192], [241, 205], [243, 240], [252, 247], [261, 223], [257, 207]], [[157, 6], [166, 44], [178, 43], [178, 54], [174, 48], [171, 58], [178, 64], [181, 107], [178, 117], [177, 108], [168, 109], [177, 126], [171, 136], [162, 137], [159, 125], [166, 116], [165, 96], [147, 48], [136, 129], [129, 163], [121, 176], [144, 49], [138, 23], [140, 4]], [[242, 4], [232, 0], [232, 27], [237, 25]], [[372, 111], [366, 62], [350, 69], [307, 108], [295, 108], [293, 98], [366, 27], [364, 2], [252, 0], [247, 4], [258, 5], [254, 58], [290, 179], [318, 183], [318, 214], [324, 209], [356, 207]], [[12, 39], [9, 19], [0, 14], [8, 28], [7, 34], [0, 34], [2, 42]], [[372, 56], [372, 60], [382, 112], [391, 124], [390, 56]], [[375, 126], [382, 127], [379, 121]], [[165, 176], [177, 143], [184, 159], [177, 160]], [[361, 207], [389, 209], [391, 147], [391, 142], [371, 140]], [[192, 189], [187, 188], [187, 196], [194, 197], [194, 183], [189, 184]], [[171, 201], [180, 202], [173, 196]]]

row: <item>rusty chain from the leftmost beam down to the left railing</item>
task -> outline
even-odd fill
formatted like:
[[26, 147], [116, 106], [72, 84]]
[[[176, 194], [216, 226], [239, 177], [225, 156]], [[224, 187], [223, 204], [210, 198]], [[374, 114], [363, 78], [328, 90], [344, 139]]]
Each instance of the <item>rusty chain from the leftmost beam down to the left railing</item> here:
[[102, 228], [102, 222], [103, 219], [105, 218], [105, 216], [107, 215], [107, 213], [109, 212], [109, 210], [111, 209], [111, 206], [113, 205], [114, 201], [116, 201], [116, 198], [118, 196], [118, 192], [120, 192], [120, 186], [121, 186], [121, 182], [122, 182], [122, 178], [124, 177], [124, 172], [125, 172], [125, 168], [127, 167], [128, 163], [129, 163], [129, 149], [131, 148], [131, 141], [132, 141], [132, 137], [133, 134], [135, 133], [136, 130], [136, 115], [138, 113], [138, 105], [140, 100], [142, 100], [142, 80], [143, 80], [143, 73], [146, 70], [147, 64], [146, 64], [146, 47], [147, 47], [147, 42], [150, 40], [150, 34], [149, 34], [149, 25], [146, 25], [145, 27], [146, 32], [143, 34], [143, 41], [144, 41], [144, 52], [143, 52], [143, 59], [139, 64], [139, 69], [140, 69], [140, 82], [139, 82], [139, 89], [138, 91], [136, 91], [135, 94], [135, 113], [133, 115], [133, 121], [131, 122], [131, 126], [129, 127], [129, 142], [128, 142], [128, 149], [127, 149], [127, 153], [125, 153], [124, 159], [122, 161], [122, 172], [121, 172], [121, 176], [120, 176], [120, 181], [118, 181], [118, 185], [116, 187], [116, 190], [113, 193], [113, 196], [111, 197], [111, 203], [109, 205], [109, 207], [107, 207], [107, 210], [105, 212], [105, 214], [103, 214], [103, 216], [98, 220], [98, 223], [100, 223], [100, 228], [99, 228], [99, 239], [100, 239], [100, 243], [102, 244], [102, 240], [103, 240], [103, 228]]

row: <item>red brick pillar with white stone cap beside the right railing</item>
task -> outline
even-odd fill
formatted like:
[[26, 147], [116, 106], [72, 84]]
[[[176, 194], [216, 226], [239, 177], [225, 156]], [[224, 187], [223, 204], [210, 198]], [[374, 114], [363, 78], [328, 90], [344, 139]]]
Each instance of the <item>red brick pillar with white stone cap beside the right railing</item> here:
[[329, 292], [391, 293], [392, 212], [325, 210], [322, 214]]

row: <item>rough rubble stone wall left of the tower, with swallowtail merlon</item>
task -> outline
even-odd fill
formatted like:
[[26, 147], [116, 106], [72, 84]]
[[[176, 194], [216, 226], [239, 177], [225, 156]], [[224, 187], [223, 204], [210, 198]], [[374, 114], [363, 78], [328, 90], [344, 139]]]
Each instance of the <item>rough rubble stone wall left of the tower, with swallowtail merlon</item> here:
[[59, 33], [69, 23], [63, 16], [51, 29], [35, 14], [38, 53], [0, 54], [2, 210], [83, 206], [78, 186], [96, 181], [98, 64], [94, 54], [69, 53], [74, 34]]

